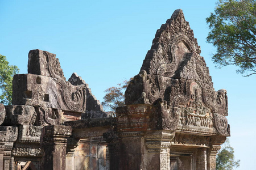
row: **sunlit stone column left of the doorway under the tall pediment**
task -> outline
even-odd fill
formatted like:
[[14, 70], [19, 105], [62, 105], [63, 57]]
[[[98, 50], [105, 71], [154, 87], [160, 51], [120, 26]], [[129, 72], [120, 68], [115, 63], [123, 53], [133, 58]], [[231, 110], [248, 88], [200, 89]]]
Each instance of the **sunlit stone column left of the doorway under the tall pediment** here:
[[174, 131], [158, 130], [145, 135], [144, 169], [170, 170], [170, 146]]

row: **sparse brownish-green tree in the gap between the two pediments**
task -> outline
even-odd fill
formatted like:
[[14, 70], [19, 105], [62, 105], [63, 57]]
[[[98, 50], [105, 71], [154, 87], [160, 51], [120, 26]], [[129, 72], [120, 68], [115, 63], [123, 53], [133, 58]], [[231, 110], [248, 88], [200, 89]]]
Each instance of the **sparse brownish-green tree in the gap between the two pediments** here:
[[105, 111], [115, 111], [115, 108], [125, 105], [124, 92], [129, 82], [125, 80], [123, 83], [117, 84], [117, 87], [110, 87], [105, 90], [106, 95], [103, 97], [104, 101], [101, 103]]

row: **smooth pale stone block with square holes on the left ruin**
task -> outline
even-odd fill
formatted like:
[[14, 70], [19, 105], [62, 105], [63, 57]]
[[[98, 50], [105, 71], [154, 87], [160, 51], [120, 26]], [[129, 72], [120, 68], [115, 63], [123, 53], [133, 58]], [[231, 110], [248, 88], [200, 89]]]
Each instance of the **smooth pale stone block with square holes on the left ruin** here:
[[60, 109], [60, 92], [53, 78], [35, 74], [16, 74], [13, 79], [13, 104]]

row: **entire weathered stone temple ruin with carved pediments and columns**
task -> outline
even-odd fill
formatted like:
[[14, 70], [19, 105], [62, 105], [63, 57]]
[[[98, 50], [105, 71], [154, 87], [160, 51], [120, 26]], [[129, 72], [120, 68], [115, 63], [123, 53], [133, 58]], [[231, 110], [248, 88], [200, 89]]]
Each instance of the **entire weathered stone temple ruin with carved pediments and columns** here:
[[0, 169], [215, 169], [230, 135], [226, 90], [215, 91], [193, 31], [176, 10], [156, 32], [116, 117], [55, 54], [31, 50], [28, 74], [0, 105]]

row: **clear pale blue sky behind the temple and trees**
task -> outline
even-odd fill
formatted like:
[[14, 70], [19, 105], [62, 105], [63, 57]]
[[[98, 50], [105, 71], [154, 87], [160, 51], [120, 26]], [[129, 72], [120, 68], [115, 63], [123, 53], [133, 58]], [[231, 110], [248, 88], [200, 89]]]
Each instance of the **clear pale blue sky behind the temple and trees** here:
[[215, 90], [229, 97], [230, 143], [240, 169], [255, 169], [256, 75], [236, 74], [236, 67], [216, 69], [210, 58], [205, 18], [208, 1], [8, 1], [0, 0], [0, 54], [27, 73], [31, 49], [55, 53], [65, 77], [79, 74], [98, 100], [104, 90], [139, 73], [155, 32], [177, 8], [184, 12], [201, 46]]

